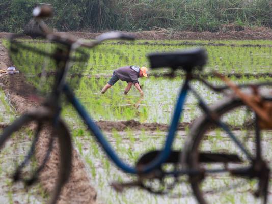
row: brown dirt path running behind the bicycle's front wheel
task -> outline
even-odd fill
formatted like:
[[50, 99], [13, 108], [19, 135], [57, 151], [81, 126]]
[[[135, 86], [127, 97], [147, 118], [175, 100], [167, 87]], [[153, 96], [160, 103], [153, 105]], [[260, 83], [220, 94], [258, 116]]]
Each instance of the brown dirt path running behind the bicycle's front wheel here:
[[[8, 51], [0, 43], [0, 69], [6, 69], [11, 66], [12, 63], [9, 60]], [[39, 104], [36, 101], [30, 100], [27, 94], [33, 90], [33, 87], [25, 84], [24, 76], [20, 74], [16, 75], [2, 75], [0, 76], [0, 83], [3, 85], [3, 89], [8, 96], [11, 104], [16, 108], [18, 114], [22, 114], [34, 107], [38, 107]], [[19, 90], [24, 91], [20, 93]], [[46, 133], [41, 135], [39, 139], [35, 156], [38, 163], [42, 162], [46, 153], [46, 146], [48, 144], [48, 136]], [[90, 180], [87, 176], [86, 169], [83, 161], [81, 161], [79, 154], [76, 150], [73, 151], [73, 164], [72, 174], [69, 182], [64, 186], [62, 194], [60, 196], [59, 204], [62, 203], [80, 203], [90, 204], [96, 203], [96, 191], [90, 185]], [[50, 155], [50, 159], [46, 164], [43, 172], [40, 176], [40, 181], [46, 192], [50, 192], [53, 188], [53, 184], [57, 178], [58, 167], [58, 150], [54, 148]]]

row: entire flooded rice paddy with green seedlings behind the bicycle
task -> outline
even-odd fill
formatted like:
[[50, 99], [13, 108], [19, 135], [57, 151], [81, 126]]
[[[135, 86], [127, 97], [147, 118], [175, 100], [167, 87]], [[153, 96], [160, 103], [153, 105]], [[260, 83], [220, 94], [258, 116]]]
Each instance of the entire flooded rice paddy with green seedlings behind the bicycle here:
[[[44, 50], [53, 50], [55, 47], [55, 45], [43, 41], [25, 40], [25, 43], [29, 46], [38, 45], [39, 48]], [[149, 69], [148, 78], [139, 78], [144, 91], [143, 98], [133, 87], [127, 95], [124, 95], [126, 82], [122, 81], [118, 81], [103, 95], [100, 94], [100, 91], [118, 67], [138, 65], [149, 68], [148, 53], [195, 47], [202, 47], [207, 50], [208, 63], [199, 73], [214, 85], [223, 85], [223, 82], [211, 75], [212, 71], [226, 74], [237, 83], [272, 81], [269, 75], [272, 67], [272, 41], [265, 40], [106, 42], [93, 50], [83, 50], [90, 54], [89, 59], [85, 62], [71, 63], [67, 81], [95, 121], [135, 120], [140, 123], [169, 124], [177, 94], [184, 82], [182, 71], [177, 71], [176, 77], [170, 79], [162, 75], [169, 71], [167, 68]], [[75, 56], [79, 55], [79, 52], [75, 53]], [[27, 80], [34, 84], [41, 94], [48, 92], [55, 71], [52, 61], [44, 60], [41, 56], [25, 50], [12, 55], [12, 60], [16, 68], [25, 73]], [[80, 79], [77, 77], [79, 74], [82, 75]], [[223, 94], [209, 90], [198, 81], [192, 82], [192, 85], [209, 105], [222, 100], [224, 97]], [[152, 195], [138, 188], [131, 188], [123, 193], [114, 191], [110, 186], [111, 182], [131, 181], [135, 178], [124, 174], [108, 160], [86, 126], [80, 121], [75, 110], [65, 102], [64, 104], [62, 116], [69, 124], [74, 145], [84, 159], [92, 185], [98, 192], [98, 203], [196, 203], [187, 182], [178, 185], [170, 196]], [[135, 104], [139, 104], [139, 107]], [[189, 94], [181, 122], [191, 123], [201, 114], [201, 110], [197, 107], [197, 100]], [[235, 112], [229, 116], [229, 120], [237, 125], [240, 117], [242, 117], [242, 114]], [[188, 132], [189, 127], [177, 132], [174, 143], [175, 150], [182, 149]], [[247, 141], [249, 149], [254, 149], [253, 137], [252, 135], [249, 136], [248, 130], [240, 129], [236, 130], [236, 133], [241, 136], [243, 141]], [[267, 160], [271, 159], [271, 152], [269, 151], [272, 148], [271, 133], [266, 131], [262, 136], [263, 154]], [[159, 129], [156, 131], [145, 129], [134, 131], [127, 128], [125, 131], [115, 129], [108, 132], [104, 131], [104, 134], [120, 157], [132, 165], [144, 152], [163, 147], [167, 133]], [[249, 139], [246, 140], [247, 137]], [[208, 139], [205, 140], [203, 145], [207, 150], [237, 151], [230, 139], [224, 133], [216, 130], [209, 133]], [[186, 181], [187, 178], [184, 177], [183, 179]], [[231, 187], [233, 181], [232, 178], [216, 176], [209, 180], [206, 185], [214, 187], [218, 183], [224, 183], [225, 186]], [[240, 183], [243, 184], [242, 181]], [[239, 185], [220, 193], [208, 194], [209, 201], [210, 203], [222, 204], [261, 203], [260, 200], [256, 200], [252, 196], [251, 189], [256, 185], [256, 181], [253, 180], [249, 184]], [[176, 198], [177, 196], [178, 198]]]

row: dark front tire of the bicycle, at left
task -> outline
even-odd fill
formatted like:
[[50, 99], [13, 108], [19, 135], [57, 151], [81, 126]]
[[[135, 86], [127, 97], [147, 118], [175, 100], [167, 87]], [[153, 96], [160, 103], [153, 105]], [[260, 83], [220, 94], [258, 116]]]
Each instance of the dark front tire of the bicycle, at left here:
[[[7, 140], [11, 139], [11, 136], [14, 135], [16, 132], [19, 132], [20, 129], [23, 127], [27, 127], [30, 124], [47, 124], [52, 127], [53, 136], [57, 138], [58, 147], [59, 147], [59, 164], [58, 164], [58, 177], [56, 180], [55, 187], [50, 193], [48, 204], [56, 203], [61, 192], [63, 185], [67, 182], [70, 172], [71, 172], [71, 160], [72, 160], [72, 143], [71, 137], [69, 134], [66, 125], [62, 120], [58, 120], [57, 128], [53, 128], [52, 126], [53, 118], [51, 115], [47, 114], [46, 112], [30, 112], [26, 113], [20, 118], [16, 119], [11, 125], [7, 126], [4, 130], [2, 135], [0, 136], [0, 151], [4, 146], [4, 143]], [[45, 128], [48, 128], [44, 126]], [[50, 128], [50, 127], [49, 127]], [[38, 134], [42, 130], [38, 130]], [[18, 133], [19, 134], [19, 133]], [[52, 135], [51, 135], [52, 137]], [[57, 170], [57, 169], [56, 169]]]

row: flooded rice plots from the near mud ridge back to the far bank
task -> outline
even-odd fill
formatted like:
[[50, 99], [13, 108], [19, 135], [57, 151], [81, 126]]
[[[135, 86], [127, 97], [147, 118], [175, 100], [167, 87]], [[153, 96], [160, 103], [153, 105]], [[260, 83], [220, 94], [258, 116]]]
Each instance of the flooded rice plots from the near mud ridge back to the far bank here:
[[[40, 49], [54, 50], [52, 44], [44, 42], [34, 43], [26, 41], [31, 46], [41, 46]], [[39, 42], [39, 41], [38, 41]], [[272, 67], [272, 42], [271, 41], [136, 41], [107, 42], [101, 46], [88, 50], [90, 58], [87, 62], [74, 62], [70, 68], [67, 82], [75, 90], [80, 101], [87, 107], [94, 120], [123, 121], [136, 120], [141, 123], [169, 123], [175, 99], [183, 83], [184, 72], [177, 71], [177, 77], [169, 79], [160, 74], [169, 72], [167, 68], [159, 70], [149, 69], [149, 78], [139, 78], [143, 86], [144, 98], [134, 87], [124, 95], [126, 82], [118, 81], [104, 95], [101, 89], [111, 78], [115, 69], [126, 65], [139, 65], [149, 68], [148, 53], [175, 51], [203, 47], [208, 53], [208, 63], [200, 74], [205, 74], [205, 79], [217, 85], [223, 84], [214, 75], [213, 71], [227, 74], [238, 83], [253, 81], [267, 81], [270, 79]], [[84, 50], [87, 52], [87, 50]], [[75, 55], [80, 56], [79, 52]], [[51, 87], [55, 70], [53, 62], [43, 59], [40, 55], [24, 51], [12, 56], [16, 67], [25, 73], [42, 94]], [[183, 75], [182, 75], [183, 74]], [[235, 76], [239, 75], [237, 79]], [[78, 76], [81, 76], [80, 78]], [[222, 98], [221, 94], [205, 88], [199, 82], [194, 82], [195, 89], [202, 94], [208, 104]], [[138, 103], [139, 102], [139, 103]], [[183, 120], [192, 121], [200, 114], [195, 105], [196, 101], [188, 96]], [[139, 104], [139, 108], [135, 105]], [[67, 116], [72, 110], [68, 108]]]

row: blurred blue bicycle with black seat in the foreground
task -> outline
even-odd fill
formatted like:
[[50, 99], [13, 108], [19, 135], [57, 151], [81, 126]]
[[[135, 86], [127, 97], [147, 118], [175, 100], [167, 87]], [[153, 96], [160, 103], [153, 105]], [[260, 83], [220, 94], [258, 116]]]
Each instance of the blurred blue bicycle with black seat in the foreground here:
[[[51, 14], [50, 11], [44, 8], [36, 10], [35, 12], [38, 20], [40, 17], [49, 16], [49, 14]], [[227, 99], [224, 99], [223, 102], [215, 105], [214, 107], [210, 107], [204, 102], [204, 100], [190, 84], [192, 80], [198, 80], [204, 83], [208, 88], [216, 92], [223, 92], [224, 90], [229, 89], [228, 86], [214, 86], [200, 77], [200, 72], [207, 61], [207, 54], [204, 49], [198, 48], [189, 51], [153, 53], [148, 55], [150, 67], [152, 69], [169, 67], [172, 70], [169, 76], [173, 76], [175, 71], [179, 69], [185, 71], [186, 74], [184, 83], [182, 84], [180, 93], [177, 98], [173, 118], [170, 123], [164, 147], [161, 150], [154, 150], [145, 153], [139, 158], [135, 166], [130, 166], [119, 158], [111, 145], [106, 141], [99, 127], [91, 119], [83, 105], [81, 105], [79, 100], [75, 97], [69, 86], [66, 84], [65, 76], [69, 68], [70, 61], [82, 60], [82, 58], [80, 57], [75, 58], [71, 56], [71, 52], [75, 48], [78, 48], [80, 46], [91, 48], [98, 45], [100, 42], [108, 39], [132, 40], [133, 38], [120, 33], [110, 33], [102, 34], [97, 39], [97, 41], [84, 43], [81, 40], [77, 40], [69, 36], [63, 37], [62, 35], [49, 32], [48, 28], [42, 21], [39, 21], [39, 25], [42, 28], [42, 32], [38, 34], [36, 33], [38, 36], [49, 39], [51, 42], [57, 42], [66, 46], [65, 51], [63, 51], [63, 48], [59, 48], [56, 49], [56, 52], [54, 54], [41, 52], [41, 54], [52, 57], [57, 61], [57, 65], [59, 65], [59, 70], [58, 74], [56, 75], [56, 82], [52, 88], [50, 96], [46, 99], [46, 102], [43, 104], [43, 107], [40, 110], [32, 113], [26, 113], [4, 130], [4, 133], [0, 137], [0, 146], [2, 146], [3, 143], [10, 137], [12, 132], [17, 131], [22, 124], [28, 123], [29, 121], [37, 121], [39, 124], [37, 133], [35, 135], [38, 135], [41, 124], [46, 121], [49, 121], [49, 125], [52, 126], [53, 129], [59, 130], [57, 133], [61, 149], [62, 165], [60, 167], [59, 173], [60, 179], [57, 182], [57, 185], [55, 187], [55, 194], [51, 197], [50, 203], [56, 202], [61, 187], [69, 177], [71, 165], [71, 138], [64, 122], [60, 119], [60, 96], [62, 94], [66, 96], [68, 103], [70, 103], [74, 107], [74, 109], [80, 115], [81, 119], [86, 123], [88, 129], [95, 136], [97, 142], [101, 145], [106, 155], [116, 164], [116, 166], [126, 173], [135, 174], [138, 176], [138, 180], [131, 183], [113, 183], [113, 186], [117, 190], [122, 190], [124, 187], [127, 186], [137, 186], [140, 188], [144, 188], [151, 193], [167, 194], [169, 193], [169, 191], [171, 191], [171, 189], [173, 189], [173, 187], [175, 187], [176, 184], [178, 184], [178, 182], [180, 182], [179, 177], [188, 176], [188, 181], [189, 183], [191, 183], [195, 197], [201, 204], [204, 204], [207, 202], [204, 198], [205, 193], [202, 193], [203, 188], [201, 186], [201, 183], [205, 181], [206, 175], [213, 176], [215, 173], [225, 172], [229, 173], [230, 176], [236, 176], [239, 178], [245, 177], [247, 181], [251, 178], [257, 178], [260, 184], [258, 190], [256, 191], [256, 196], [262, 196], [264, 198], [264, 203], [267, 202], [267, 180], [269, 178], [269, 167], [267, 166], [266, 162], [262, 160], [261, 156], [260, 128], [258, 126], [258, 123], [256, 122], [258, 121], [258, 117], [250, 118], [253, 119], [253, 122], [250, 121], [250, 124], [242, 124], [248, 125], [249, 127], [252, 127], [252, 123], [256, 124], [256, 134], [254, 136], [256, 137], [257, 151], [256, 155], [252, 155], [247, 150], [247, 148], [244, 147], [242, 142], [239, 141], [233, 131], [231, 131], [231, 124], [228, 124], [220, 118], [220, 116], [227, 115], [228, 112], [236, 107], [243, 106], [247, 109], [248, 106], [244, 105], [243, 101], [239, 97], [233, 95], [232, 97], [229, 96]], [[13, 36], [13, 38], [11, 38], [11, 51], [16, 51], [16, 46], [18, 48], [33, 50], [33, 48], [23, 45], [19, 41], [16, 41], [16, 37], [17, 36]], [[37, 52], [38, 50], [33, 51]], [[271, 85], [271, 83], [254, 84], [254, 86], [256, 86], [257, 88], [266, 85]], [[249, 88], [251, 86], [252, 84], [246, 84], [240, 85], [239, 88]], [[204, 115], [200, 119], [196, 120], [195, 123], [192, 125], [189, 134], [190, 136], [187, 139], [184, 149], [182, 151], [173, 151], [172, 144], [175, 139], [177, 126], [188, 92], [193, 93], [193, 95], [196, 97], [199, 103], [199, 107], [201, 108], [201, 110], [203, 110]], [[260, 93], [260, 96], [262, 100], [266, 102], [270, 103], [272, 101], [272, 97], [271, 95], [269, 96], [269, 94], [266, 95]], [[247, 110], [247, 113], [248, 112], [250, 111]], [[251, 116], [252, 113], [250, 117]], [[205, 140], [205, 132], [208, 131], [208, 129], [212, 129], [214, 127], [220, 127], [224, 132], [226, 132], [227, 135], [232, 139], [234, 144], [237, 145], [239, 150], [245, 156], [239, 156], [238, 153], [225, 153], [218, 151], [211, 153], [208, 151], [200, 150], [200, 143]], [[33, 142], [33, 145], [35, 146], [35, 142]], [[48, 149], [48, 154], [50, 151], [51, 150]], [[246, 161], [244, 160], [245, 158], [247, 159]], [[29, 157], [26, 157], [26, 160], [28, 159]], [[45, 162], [46, 159], [44, 159], [43, 163]], [[237, 163], [239, 164], [238, 167], [234, 166], [235, 168], [229, 168], [229, 166], [232, 167], [233, 164], [236, 165]], [[168, 164], [173, 164], [174, 168], [170, 170], [165, 169], [164, 165]], [[204, 167], [206, 166], [203, 165], [205, 164], [208, 164], [208, 167], [214, 164], [216, 168], [204, 169]], [[223, 167], [218, 168], [219, 164], [222, 164]], [[42, 166], [40, 168], [42, 168]], [[20, 171], [20, 168], [18, 171]], [[39, 172], [39, 169], [37, 170], [37, 172]], [[164, 180], [166, 177], [173, 178], [172, 182], [166, 182]], [[154, 180], [159, 181], [159, 186], [154, 186], [152, 184], [152, 181]]]

